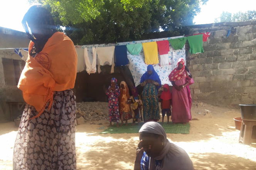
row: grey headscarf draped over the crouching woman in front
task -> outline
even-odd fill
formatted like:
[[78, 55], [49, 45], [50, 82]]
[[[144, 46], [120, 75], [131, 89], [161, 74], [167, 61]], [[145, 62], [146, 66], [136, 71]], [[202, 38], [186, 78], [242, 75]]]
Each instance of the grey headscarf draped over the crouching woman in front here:
[[162, 160], [160, 170], [194, 170], [189, 155], [182, 148], [169, 142], [165, 130], [159, 123], [147, 122], [140, 128], [140, 132], [162, 135], [165, 140], [160, 155], [150, 158], [149, 170], [155, 170], [155, 160]]

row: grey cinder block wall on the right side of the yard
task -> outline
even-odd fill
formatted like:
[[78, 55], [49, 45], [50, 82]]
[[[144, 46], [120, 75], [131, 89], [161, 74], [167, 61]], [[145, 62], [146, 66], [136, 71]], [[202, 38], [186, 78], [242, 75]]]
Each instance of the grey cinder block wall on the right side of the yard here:
[[[213, 32], [204, 53], [190, 55], [192, 98], [213, 105], [256, 104], [256, 21], [193, 25], [190, 33]], [[227, 29], [232, 29], [227, 38]]]

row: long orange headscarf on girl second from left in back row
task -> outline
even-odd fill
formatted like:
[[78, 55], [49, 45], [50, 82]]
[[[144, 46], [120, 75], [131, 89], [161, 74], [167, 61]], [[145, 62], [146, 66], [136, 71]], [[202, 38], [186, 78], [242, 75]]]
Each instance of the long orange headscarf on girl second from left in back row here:
[[[122, 88], [122, 84], [124, 85], [125, 89]], [[120, 87], [120, 96], [119, 96], [119, 111], [120, 112], [130, 112], [130, 106], [127, 104], [127, 100], [130, 98], [129, 88], [126, 82], [121, 82]]]

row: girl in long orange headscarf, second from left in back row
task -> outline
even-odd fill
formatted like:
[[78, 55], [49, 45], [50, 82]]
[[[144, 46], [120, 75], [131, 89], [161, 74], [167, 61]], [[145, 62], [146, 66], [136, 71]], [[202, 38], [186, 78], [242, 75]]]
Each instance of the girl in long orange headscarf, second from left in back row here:
[[130, 105], [128, 104], [129, 98], [130, 98], [129, 88], [127, 84], [124, 81], [122, 81], [120, 96], [119, 96], [119, 114], [121, 119], [121, 125], [123, 125], [124, 120], [125, 120], [125, 125], [127, 125], [128, 120], [132, 118]]

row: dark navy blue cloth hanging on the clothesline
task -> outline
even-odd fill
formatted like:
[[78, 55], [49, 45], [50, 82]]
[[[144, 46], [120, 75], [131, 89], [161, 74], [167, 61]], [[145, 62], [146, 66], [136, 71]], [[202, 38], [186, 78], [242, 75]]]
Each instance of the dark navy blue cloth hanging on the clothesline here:
[[122, 66], [129, 64], [127, 58], [127, 48], [126, 45], [118, 45], [115, 47], [115, 56], [116, 56], [116, 66]]

